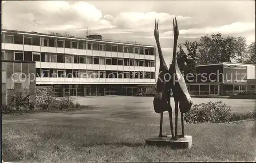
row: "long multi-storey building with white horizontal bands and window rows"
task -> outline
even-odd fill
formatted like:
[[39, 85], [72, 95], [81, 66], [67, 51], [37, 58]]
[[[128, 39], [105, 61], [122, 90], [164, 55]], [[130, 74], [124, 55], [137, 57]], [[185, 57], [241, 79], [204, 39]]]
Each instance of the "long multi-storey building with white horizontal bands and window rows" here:
[[57, 96], [153, 92], [155, 46], [2, 30], [2, 60], [34, 61], [36, 85]]

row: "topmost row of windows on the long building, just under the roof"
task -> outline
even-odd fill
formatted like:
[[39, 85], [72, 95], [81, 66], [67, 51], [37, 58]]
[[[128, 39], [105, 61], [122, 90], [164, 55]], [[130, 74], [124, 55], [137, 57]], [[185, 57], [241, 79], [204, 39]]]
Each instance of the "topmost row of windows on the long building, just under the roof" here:
[[105, 42], [94, 42], [84, 40], [72, 40], [72, 39], [61, 39], [53, 37], [40, 37], [35, 35], [23, 35], [17, 33], [3, 33], [2, 42], [24, 44], [24, 45], [35, 45], [35, 46], [47, 46], [47, 47], [58, 47], [58, 48], [73, 48], [73, 49], [84, 49], [84, 50], [99, 50], [99, 51], [113, 51], [113, 52], [124, 52], [124, 53], [135, 53], [145, 55], [155, 55], [155, 48], [122, 45], [115, 43]]

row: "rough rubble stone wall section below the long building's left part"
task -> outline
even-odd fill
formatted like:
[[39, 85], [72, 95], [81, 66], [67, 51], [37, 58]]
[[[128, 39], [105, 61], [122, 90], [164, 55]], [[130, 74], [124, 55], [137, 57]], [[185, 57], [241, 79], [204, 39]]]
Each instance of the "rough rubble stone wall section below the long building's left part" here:
[[51, 104], [54, 99], [52, 86], [36, 86], [36, 105]]

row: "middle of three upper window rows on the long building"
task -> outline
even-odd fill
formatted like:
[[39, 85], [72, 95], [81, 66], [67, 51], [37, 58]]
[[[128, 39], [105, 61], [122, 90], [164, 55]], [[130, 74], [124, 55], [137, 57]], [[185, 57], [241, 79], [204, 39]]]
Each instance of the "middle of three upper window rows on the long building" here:
[[154, 60], [2, 50], [2, 60], [155, 67]]

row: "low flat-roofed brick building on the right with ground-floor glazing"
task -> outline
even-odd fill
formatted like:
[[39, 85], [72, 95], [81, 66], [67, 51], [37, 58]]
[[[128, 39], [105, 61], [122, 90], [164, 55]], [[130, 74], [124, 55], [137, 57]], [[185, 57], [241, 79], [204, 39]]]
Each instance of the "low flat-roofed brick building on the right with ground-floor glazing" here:
[[255, 89], [255, 74], [251, 64], [202, 64], [196, 65], [194, 81], [187, 85], [191, 95], [230, 95]]

